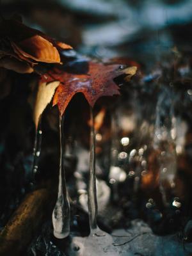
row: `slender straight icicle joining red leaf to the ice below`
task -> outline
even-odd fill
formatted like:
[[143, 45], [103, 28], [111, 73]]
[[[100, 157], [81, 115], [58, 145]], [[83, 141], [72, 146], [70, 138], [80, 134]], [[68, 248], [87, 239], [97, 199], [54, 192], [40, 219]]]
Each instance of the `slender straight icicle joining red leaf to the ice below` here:
[[90, 180], [88, 186], [88, 211], [90, 220], [91, 234], [95, 234], [97, 227], [97, 188], [96, 188], [96, 174], [95, 174], [95, 129], [93, 109], [90, 108], [91, 117], [91, 132], [90, 132]]

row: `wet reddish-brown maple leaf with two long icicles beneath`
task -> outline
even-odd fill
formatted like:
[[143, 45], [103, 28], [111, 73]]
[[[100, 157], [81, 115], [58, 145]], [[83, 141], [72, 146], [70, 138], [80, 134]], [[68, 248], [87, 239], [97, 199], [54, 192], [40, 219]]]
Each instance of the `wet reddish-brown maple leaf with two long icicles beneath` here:
[[[129, 78], [136, 72], [136, 68], [119, 70], [120, 65], [104, 65], [89, 63], [88, 74], [70, 74], [59, 69], [49, 71], [42, 81], [60, 81], [53, 99], [53, 106], [58, 105], [63, 115], [68, 103], [76, 93], [83, 93], [90, 106], [94, 106], [102, 96], [119, 95], [119, 88], [113, 81], [116, 76], [126, 74]], [[134, 71], [133, 71], [134, 70]]]

